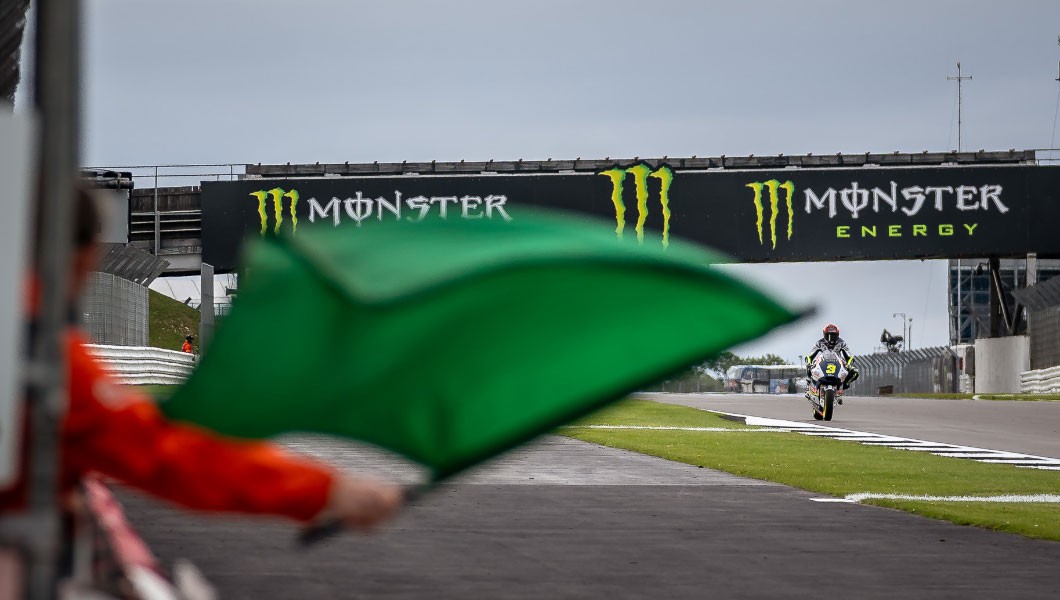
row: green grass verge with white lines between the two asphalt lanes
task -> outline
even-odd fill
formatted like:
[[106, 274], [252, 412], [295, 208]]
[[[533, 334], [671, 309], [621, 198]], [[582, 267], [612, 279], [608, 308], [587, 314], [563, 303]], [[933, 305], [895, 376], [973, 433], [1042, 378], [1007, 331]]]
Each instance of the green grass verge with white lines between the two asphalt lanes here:
[[[748, 428], [684, 406], [628, 400], [559, 429], [587, 442], [764, 479], [820, 494], [1060, 494], [1060, 472], [987, 464], [788, 433], [590, 429], [585, 425]], [[1060, 541], [1060, 505], [865, 500], [1030, 537]]]

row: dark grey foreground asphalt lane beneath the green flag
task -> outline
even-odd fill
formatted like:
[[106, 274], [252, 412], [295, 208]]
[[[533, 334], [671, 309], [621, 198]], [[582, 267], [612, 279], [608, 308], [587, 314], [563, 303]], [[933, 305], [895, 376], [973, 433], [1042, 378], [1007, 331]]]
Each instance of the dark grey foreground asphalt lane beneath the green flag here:
[[[412, 481], [344, 444], [290, 445]], [[310, 548], [263, 519], [190, 515], [122, 491], [163, 564], [191, 559], [222, 598], [1048, 598], [1060, 544], [546, 437]]]

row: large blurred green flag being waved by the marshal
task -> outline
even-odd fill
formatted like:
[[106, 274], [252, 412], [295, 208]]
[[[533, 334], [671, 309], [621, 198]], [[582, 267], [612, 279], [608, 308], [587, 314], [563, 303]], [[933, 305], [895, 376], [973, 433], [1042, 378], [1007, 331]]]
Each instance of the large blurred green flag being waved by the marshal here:
[[544, 214], [257, 241], [162, 408], [237, 437], [369, 442], [438, 480], [796, 318], [720, 260]]

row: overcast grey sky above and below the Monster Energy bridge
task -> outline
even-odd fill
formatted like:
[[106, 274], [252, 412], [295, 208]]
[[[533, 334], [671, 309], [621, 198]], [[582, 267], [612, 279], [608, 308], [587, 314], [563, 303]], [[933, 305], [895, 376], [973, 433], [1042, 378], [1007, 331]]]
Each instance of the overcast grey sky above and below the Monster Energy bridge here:
[[[1055, 145], [1060, 2], [89, 0], [91, 165]], [[948, 342], [938, 261], [755, 265], [818, 316], [741, 352]], [[834, 279], [834, 293], [819, 292]], [[809, 284], [808, 282], [813, 282]]]

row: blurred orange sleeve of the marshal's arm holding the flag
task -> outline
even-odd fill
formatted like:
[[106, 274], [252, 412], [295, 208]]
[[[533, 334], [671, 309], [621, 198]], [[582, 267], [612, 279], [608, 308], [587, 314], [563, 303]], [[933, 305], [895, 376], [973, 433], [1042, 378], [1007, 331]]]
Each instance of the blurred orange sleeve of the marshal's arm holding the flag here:
[[104, 372], [68, 334], [70, 404], [63, 428], [63, 484], [88, 473], [191, 509], [313, 519], [334, 472], [280, 446], [225, 438], [167, 421], [154, 402]]

